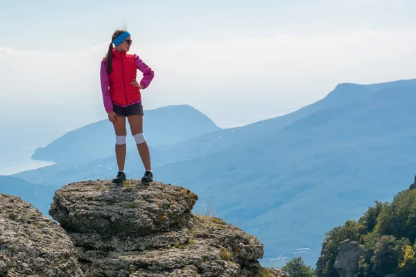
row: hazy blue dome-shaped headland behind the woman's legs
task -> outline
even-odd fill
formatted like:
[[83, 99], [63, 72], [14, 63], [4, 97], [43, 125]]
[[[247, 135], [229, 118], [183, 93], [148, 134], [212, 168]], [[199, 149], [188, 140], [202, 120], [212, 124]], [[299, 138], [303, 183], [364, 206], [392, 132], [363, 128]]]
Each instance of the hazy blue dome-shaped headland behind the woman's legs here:
[[[128, 149], [136, 149], [130, 126]], [[212, 120], [189, 105], [175, 105], [145, 111], [144, 134], [151, 146], [166, 145], [220, 129]], [[101, 120], [75, 129], [55, 139], [45, 148], [37, 148], [32, 159], [64, 164], [85, 163], [114, 154], [114, 128]]]

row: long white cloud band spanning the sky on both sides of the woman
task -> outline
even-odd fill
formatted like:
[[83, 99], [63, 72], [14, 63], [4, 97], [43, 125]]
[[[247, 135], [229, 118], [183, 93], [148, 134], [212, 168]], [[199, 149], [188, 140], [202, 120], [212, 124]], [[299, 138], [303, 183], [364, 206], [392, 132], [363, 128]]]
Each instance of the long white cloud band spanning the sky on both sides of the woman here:
[[[0, 48], [0, 85], [15, 93], [8, 97], [24, 95], [27, 101], [42, 96], [51, 102], [80, 96], [97, 99], [99, 64], [107, 47], [103, 42], [83, 51], [42, 53]], [[165, 102], [180, 101], [181, 96], [207, 100], [225, 92], [254, 97], [252, 91], [265, 97], [320, 97], [338, 82], [416, 78], [415, 30], [141, 42], [131, 51], [155, 69], [155, 93], [149, 97]]]

